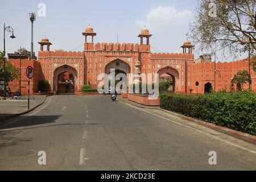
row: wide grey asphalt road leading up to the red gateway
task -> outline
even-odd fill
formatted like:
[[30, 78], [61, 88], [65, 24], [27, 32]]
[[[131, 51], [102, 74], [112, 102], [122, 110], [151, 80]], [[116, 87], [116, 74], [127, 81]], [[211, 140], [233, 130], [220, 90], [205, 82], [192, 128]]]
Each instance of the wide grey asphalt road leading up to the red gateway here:
[[[39, 151], [46, 165], [38, 164]], [[0, 122], [0, 169], [255, 170], [256, 146], [110, 96], [62, 95]]]

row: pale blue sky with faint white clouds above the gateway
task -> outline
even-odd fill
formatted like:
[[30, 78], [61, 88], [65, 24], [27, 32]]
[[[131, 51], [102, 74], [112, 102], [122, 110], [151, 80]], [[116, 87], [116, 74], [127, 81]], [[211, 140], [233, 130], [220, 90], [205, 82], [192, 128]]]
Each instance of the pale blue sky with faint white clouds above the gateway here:
[[[39, 16], [39, 3], [46, 5], [46, 16]], [[3, 23], [14, 28], [16, 39], [6, 34], [6, 52], [13, 53], [21, 46], [30, 51], [31, 23], [28, 13], [36, 13], [34, 50], [45, 35], [53, 44], [51, 50], [82, 51], [82, 32], [90, 24], [97, 42], [139, 43], [137, 37], [144, 26], [151, 34], [152, 52], [180, 53], [189, 23], [195, 20], [197, 0], [74, 0], [74, 1], [17, 1], [1, 0], [0, 30]], [[42, 11], [40, 11], [42, 12]], [[0, 50], [3, 50], [3, 31], [0, 31]], [[195, 52], [197, 58], [201, 53]]]

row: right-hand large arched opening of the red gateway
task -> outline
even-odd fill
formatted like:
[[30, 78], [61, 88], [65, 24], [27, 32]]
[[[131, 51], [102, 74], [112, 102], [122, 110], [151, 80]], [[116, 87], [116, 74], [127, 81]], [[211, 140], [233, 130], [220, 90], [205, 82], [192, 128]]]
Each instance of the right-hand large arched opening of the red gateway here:
[[169, 92], [175, 92], [175, 81], [176, 78], [179, 78], [179, 72], [176, 71], [176, 69], [171, 67], [164, 67], [162, 69], [159, 69], [159, 82], [161, 81], [169, 81], [170, 82], [170, 88], [168, 88]]

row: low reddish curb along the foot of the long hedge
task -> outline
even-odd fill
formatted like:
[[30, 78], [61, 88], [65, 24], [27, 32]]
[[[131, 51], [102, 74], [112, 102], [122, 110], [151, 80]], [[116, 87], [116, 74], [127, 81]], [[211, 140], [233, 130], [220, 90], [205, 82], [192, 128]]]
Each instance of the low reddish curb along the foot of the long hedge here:
[[130, 102], [127, 102], [126, 100], [124, 100], [123, 98], [118, 98], [120, 101], [122, 102], [126, 102], [127, 104], [130, 104], [130, 105], [133, 105], [133, 106], [136, 106], [136, 107], [139, 107], [139, 108], [144, 108], [144, 109], [158, 109], [158, 110], [162, 110], [166, 113], [169, 113], [169, 114], [172, 114], [172, 115], [176, 115], [177, 117], [180, 117], [180, 118], [183, 118], [183, 119], [186, 119], [188, 121], [192, 121], [194, 123], [197, 123], [199, 125], [202, 125], [202, 126], [205, 126], [205, 127], [208, 127], [210, 129], [213, 129], [213, 130], [216, 130], [216, 131], [219, 131], [221, 133], [224, 133], [224, 134], [227, 134], [227, 135], [230, 135], [234, 138], [238, 138], [238, 139], [241, 139], [245, 142], [249, 142], [249, 143], [252, 143], [252, 144], [255, 144], [256, 145], [256, 136], [254, 135], [250, 135], [250, 134], [247, 134], [247, 133], [242, 133], [241, 131], [236, 131], [236, 130], [232, 130], [232, 129], [229, 129], [227, 127], [224, 127], [224, 126], [218, 126], [218, 125], [214, 125], [213, 123], [209, 123], [209, 122], [205, 122], [205, 121], [201, 121], [199, 119], [195, 119], [195, 118], [191, 118], [191, 117], [187, 117], [183, 114], [179, 114], [179, 113], [174, 113], [172, 111], [169, 111], [169, 110], [165, 110], [165, 109], [161, 109], [161, 108], [147, 108], [146, 106], [144, 105], [141, 105], [141, 104], [138, 104], [138, 103], [134, 103], [134, 104], [131, 104]]

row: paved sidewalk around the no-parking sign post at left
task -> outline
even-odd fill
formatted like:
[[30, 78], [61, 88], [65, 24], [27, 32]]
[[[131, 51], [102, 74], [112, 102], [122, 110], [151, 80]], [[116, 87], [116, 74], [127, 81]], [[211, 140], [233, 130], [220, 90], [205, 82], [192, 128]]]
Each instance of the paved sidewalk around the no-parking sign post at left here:
[[[28, 98], [28, 96], [22, 96]], [[32, 97], [35, 98], [35, 100], [31, 100]], [[0, 97], [2, 99], [2, 97]], [[38, 107], [39, 105], [43, 104], [43, 102], [46, 100], [46, 96], [30, 96], [30, 110], [27, 109], [27, 102], [28, 100], [11, 100], [10, 98], [7, 98], [7, 100], [0, 100], [0, 122], [13, 118], [17, 115], [22, 115], [25, 113], [28, 113], [31, 110], [34, 110], [35, 107]]]

